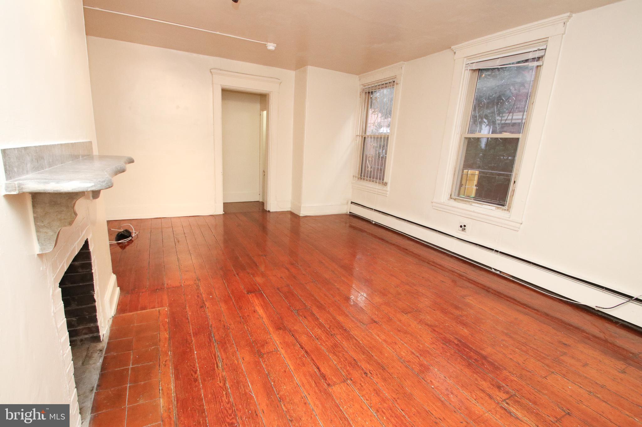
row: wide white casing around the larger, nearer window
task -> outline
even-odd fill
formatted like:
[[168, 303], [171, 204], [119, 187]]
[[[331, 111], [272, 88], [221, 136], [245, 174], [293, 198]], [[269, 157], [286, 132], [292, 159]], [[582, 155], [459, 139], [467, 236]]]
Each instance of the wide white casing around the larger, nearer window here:
[[[455, 71], [432, 203], [434, 209], [507, 229], [519, 229], [544, 129], [562, 36], [570, 17], [570, 13], [567, 13], [452, 47], [455, 52]], [[499, 207], [453, 197], [456, 186], [454, 177], [459, 173], [460, 166], [462, 129], [469, 120], [466, 115], [470, 113], [471, 86], [474, 90], [471, 76], [476, 76], [475, 70], [481, 68], [505, 67], [516, 61], [542, 58], [544, 52], [544, 61], [530, 63], [541, 67], [538, 67], [539, 77], [532, 92], [534, 99], [519, 141], [507, 205]]]

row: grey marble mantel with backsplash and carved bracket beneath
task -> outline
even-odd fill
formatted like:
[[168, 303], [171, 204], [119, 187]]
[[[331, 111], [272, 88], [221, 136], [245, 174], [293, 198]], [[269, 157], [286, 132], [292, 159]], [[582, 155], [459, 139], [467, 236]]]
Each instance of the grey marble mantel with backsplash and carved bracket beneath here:
[[1, 149], [4, 195], [30, 193], [37, 253], [50, 252], [58, 234], [76, 219], [76, 202], [96, 199], [125, 172], [129, 156], [98, 156], [91, 141]]

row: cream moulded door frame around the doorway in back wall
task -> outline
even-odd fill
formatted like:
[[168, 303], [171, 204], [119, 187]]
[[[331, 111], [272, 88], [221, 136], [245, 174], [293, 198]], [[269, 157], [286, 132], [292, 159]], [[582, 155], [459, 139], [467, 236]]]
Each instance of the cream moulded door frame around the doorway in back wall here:
[[268, 129], [266, 132], [266, 194], [263, 195], [265, 209], [277, 207], [275, 168], [277, 155], [277, 123], [279, 122], [279, 87], [281, 80], [275, 77], [254, 76], [241, 72], [213, 68], [212, 98], [214, 110], [214, 214], [223, 213], [223, 89], [240, 92], [265, 93], [268, 95]]

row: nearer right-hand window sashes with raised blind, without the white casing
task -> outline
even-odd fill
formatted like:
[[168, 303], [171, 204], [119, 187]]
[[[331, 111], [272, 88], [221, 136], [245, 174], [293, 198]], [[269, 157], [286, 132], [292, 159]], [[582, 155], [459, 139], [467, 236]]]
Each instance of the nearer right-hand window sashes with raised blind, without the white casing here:
[[507, 208], [546, 46], [466, 64], [471, 73], [453, 198]]

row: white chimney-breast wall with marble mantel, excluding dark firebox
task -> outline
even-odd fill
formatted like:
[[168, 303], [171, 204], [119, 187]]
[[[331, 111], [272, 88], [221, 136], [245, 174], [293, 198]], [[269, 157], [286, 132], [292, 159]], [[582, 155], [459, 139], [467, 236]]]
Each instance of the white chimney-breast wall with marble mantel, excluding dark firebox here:
[[[100, 334], [108, 334], [119, 290], [105, 208], [95, 199], [131, 159], [100, 156], [91, 141], [96, 126], [82, 2], [47, 2], [40, 11], [30, 3], [13, 2], [15, 8], [5, 14], [21, 25], [12, 40], [5, 40], [9, 52], [3, 72], [12, 78], [0, 82], [7, 101], [0, 135], [0, 394], [4, 403], [69, 404], [69, 425], [77, 427], [73, 363], [80, 357], [69, 345], [59, 284], [89, 240], [96, 317]], [[55, 19], [43, 20], [43, 13]], [[33, 49], [40, 54], [25, 54]], [[47, 70], [34, 77], [42, 63]]]

